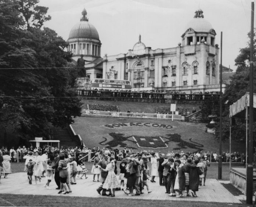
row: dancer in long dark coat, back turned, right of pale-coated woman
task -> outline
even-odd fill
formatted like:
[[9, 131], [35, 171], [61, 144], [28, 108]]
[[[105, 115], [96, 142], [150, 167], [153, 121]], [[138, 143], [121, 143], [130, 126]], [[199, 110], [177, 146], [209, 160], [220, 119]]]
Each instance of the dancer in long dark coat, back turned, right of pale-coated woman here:
[[199, 175], [202, 175], [203, 172], [196, 165], [199, 163], [198, 159], [195, 159], [194, 164], [190, 165], [190, 178], [189, 178], [189, 188], [192, 190], [191, 194], [193, 197], [197, 197], [196, 191], [198, 191], [199, 186]]

